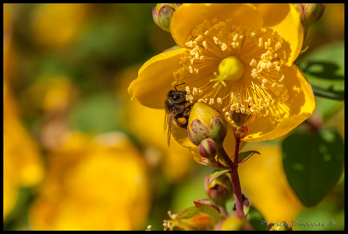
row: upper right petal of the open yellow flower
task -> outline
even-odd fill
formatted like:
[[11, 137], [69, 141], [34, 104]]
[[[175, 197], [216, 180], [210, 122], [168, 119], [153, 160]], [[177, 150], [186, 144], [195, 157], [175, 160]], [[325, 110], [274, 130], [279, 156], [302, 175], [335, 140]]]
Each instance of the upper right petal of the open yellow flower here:
[[300, 9], [295, 3], [260, 3], [254, 5], [262, 14], [264, 21], [262, 28], [278, 30], [282, 34], [283, 44], [280, 50], [285, 50], [284, 64], [290, 67], [299, 56], [303, 44]]

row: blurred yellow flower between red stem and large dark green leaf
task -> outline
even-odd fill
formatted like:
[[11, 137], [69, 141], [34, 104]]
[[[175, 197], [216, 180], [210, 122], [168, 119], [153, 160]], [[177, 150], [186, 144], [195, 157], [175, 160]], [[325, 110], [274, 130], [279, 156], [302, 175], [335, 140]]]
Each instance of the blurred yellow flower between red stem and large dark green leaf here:
[[262, 143], [247, 147], [260, 155], [253, 155], [238, 167], [242, 193], [266, 222], [291, 222], [304, 206], [287, 182], [281, 147]]

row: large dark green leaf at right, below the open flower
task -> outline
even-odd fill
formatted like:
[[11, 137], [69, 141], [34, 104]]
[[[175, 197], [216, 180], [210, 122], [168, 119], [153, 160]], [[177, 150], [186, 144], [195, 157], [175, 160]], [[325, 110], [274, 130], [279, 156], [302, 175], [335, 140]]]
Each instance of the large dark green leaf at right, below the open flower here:
[[344, 143], [335, 130], [295, 133], [283, 142], [284, 171], [300, 201], [318, 204], [343, 171]]

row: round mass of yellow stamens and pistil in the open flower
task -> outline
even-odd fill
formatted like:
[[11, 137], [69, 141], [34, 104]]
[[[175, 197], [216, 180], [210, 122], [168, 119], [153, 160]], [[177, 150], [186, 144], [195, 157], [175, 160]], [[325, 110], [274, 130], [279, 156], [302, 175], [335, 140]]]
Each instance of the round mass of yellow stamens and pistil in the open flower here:
[[[289, 95], [281, 67], [287, 57], [281, 34], [236, 26], [232, 19], [212, 22], [205, 20], [192, 31], [185, 44], [189, 49], [179, 62], [182, 67], [174, 74], [176, 83], [188, 85], [187, 101], [258, 117], [286, 111], [282, 104]], [[272, 105], [283, 109], [274, 111]]]

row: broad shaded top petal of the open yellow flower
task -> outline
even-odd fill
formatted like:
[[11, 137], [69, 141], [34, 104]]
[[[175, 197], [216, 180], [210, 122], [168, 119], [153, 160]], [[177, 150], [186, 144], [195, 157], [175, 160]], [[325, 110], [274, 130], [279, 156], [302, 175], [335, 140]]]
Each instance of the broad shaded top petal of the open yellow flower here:
[[263, 23], [262, 16], [251, 4], [224, 3], [224, 4], [183, 4], [173, 14], [171, 33], [176, 44], [185, 48], [187, 37], [197, 25], [202, 24], [205, 18], [214, 25], [212, 20], [226, 21], [232, 18], [231, 24], [260, 29]]

